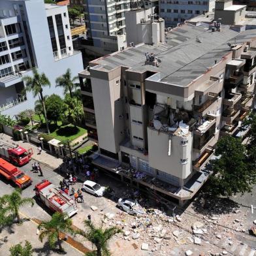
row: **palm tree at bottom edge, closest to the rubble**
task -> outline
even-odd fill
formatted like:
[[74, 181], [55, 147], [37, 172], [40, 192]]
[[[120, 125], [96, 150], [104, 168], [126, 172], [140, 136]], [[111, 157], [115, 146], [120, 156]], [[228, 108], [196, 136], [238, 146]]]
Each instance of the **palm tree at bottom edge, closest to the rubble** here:
[[91, 244], [93, 244], [97, 249], [96, 251], [90, 252], [86, 255], [109, 256], [110, 251], [108, 249], [108, 241], [115, 234], [122, 232], [121, 229], [118, 229], [117, 227], [110, 227], [108, 229], [103, 229], [103, 227], [97, 228], [89, 220], [85, 220], [84, 225], [86, 227], [86, 231], [78, 230], [76, 233], [84, 236], [84, 238], [91, 242]]

